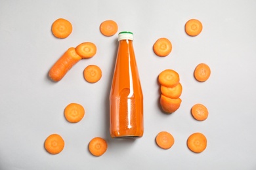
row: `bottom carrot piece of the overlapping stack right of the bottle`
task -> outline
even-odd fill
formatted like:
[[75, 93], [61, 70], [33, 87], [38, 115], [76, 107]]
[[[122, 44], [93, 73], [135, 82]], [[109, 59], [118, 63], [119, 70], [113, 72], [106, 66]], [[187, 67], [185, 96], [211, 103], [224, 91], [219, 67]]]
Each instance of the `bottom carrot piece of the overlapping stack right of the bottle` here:
[[172, 113], [181, 106], [181, 98], [171, 99], [161, 94], [160, 105], [164, 112]]

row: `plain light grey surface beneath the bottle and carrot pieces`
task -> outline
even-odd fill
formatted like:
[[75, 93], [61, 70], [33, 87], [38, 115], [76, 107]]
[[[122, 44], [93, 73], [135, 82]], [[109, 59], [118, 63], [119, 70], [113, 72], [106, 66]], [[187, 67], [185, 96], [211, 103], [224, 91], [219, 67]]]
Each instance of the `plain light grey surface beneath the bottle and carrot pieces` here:
[[[256, 169], [256, 1], [0, 1], [0, 169]], [[51, 24], [66, 18], [74, 31], [56, 39]], [[184, 24], [202, 21], [198, 37], [188, 37]], [[99, 25], [115, 20], [119, 31], [133, 31], [135, 54], [144, 93], [144, 136], [114, 140], [108, 133], [108, 95], [117, 35], [104, 37]], [[160, 58], [152, 45], [160, 37], [173, 51]], [[95, 57], [79, 61], [57, 83], [47, 78], [53, 63], [71, 46], [91, 41]], [[211, 67], [207, 82], [196, 82], [198, 63]], [[83, 69], [95, 64], [102, 79], [89, 84]], [[175, 69], [181, 76], [182, 105], [167, 115], [159, 107], [158, 75]], [[86, 114], [68, 123], [63, 110], [80, 103]], [[203, 103], [204, 122], [190, 109]], [[155, 143], [169, 131], [175, 144], [162, 150]], [[200, 131], [207, 137], [201, 154], [190, 152], [186, 139]], [[64, 138], [64, 150], [48, 154], [48, 135]], [[87, 144], [103, 137], [108, 150], [92, 156]]]

